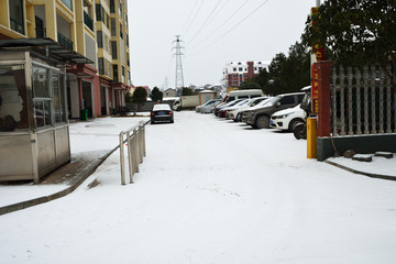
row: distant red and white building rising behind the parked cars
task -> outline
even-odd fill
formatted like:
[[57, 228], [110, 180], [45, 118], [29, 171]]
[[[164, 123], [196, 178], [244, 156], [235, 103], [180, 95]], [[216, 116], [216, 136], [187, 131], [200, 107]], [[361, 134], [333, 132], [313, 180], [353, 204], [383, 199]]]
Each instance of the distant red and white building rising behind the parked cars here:
[[260, 74], [262, 69], [268, 70], [268, 64], [256, 62], [228, 62], [223, 68], [222, 85], [224, 87], [239, 87], [243, 81]]

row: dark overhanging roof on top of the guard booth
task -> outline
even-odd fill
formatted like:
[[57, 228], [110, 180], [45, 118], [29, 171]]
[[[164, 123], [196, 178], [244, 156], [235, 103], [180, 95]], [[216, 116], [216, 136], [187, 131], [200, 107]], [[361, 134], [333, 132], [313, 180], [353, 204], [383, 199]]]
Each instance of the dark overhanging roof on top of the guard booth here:
[[94, 64], [89, 58], [62, 46], [51, 38], [0, 40], [0, 48], [11, 47], [34, 47], [44, 53], [46, 53], [47, 50], [50, 55], [58, 57], [68, 64]]

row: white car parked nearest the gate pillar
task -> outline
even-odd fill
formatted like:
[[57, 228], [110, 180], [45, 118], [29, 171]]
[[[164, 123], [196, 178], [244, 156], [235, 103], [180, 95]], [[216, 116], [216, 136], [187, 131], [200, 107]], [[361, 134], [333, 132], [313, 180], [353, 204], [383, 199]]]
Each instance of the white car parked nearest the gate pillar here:
[[270, 127], [273, 129], [294, 131], [296, 125], [305, 123], [307, 118], [306, 111], [300, 105], [277, 111], [271, 116]]

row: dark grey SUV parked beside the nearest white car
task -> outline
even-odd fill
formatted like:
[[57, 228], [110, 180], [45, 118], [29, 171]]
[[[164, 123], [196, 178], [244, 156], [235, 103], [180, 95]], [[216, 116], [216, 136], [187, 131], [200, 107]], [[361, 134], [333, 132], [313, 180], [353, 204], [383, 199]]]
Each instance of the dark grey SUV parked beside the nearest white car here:
[[279, 110], [293, 108], [301, 103], [305, 92], [278, 95], [261, 108], [250, 109], [243, 112], [242, 122], [255, 129], [268, 129], [271, 116]]

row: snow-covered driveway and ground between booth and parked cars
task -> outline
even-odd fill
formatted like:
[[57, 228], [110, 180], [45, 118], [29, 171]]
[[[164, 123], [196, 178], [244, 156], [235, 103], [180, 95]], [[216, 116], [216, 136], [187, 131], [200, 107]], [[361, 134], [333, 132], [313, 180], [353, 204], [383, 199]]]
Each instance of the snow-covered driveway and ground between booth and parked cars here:
[[[100, 119], [90, 135], [73, 124], [74, 152], [112, 148], [131, 120]], [[147, 125], [146, 144], [133, 185], [116, 152], [67, 197], [1, 216], [0, 263], [396, 263], [395, 182], [195, 112]]]

